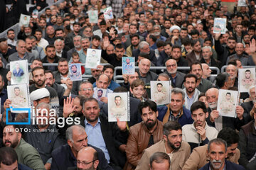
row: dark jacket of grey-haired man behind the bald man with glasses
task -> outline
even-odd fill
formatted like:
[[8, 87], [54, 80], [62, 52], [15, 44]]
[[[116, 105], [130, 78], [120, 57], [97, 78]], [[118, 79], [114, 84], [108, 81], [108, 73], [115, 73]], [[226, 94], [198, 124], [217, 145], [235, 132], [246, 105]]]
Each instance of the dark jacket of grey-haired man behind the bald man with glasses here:
[[[88, 146], [93, 147], [97, 151], [100, 161], [100, 169], [112, 169], [107, 164], [107, 159], [105, 158], [105, 154], [104, 152], [102, 152], [102, 149], [94, 147], [90, 144], [88, 144]], [[57, 149], [53, 150], [52, 158], [52, 164], [50, 165], [51, 170], [65, 170], [68, 169], [68, 167], [77, 166], [76, 158], [71, 152], [70, 146], [68, 144], [62, 145]]]

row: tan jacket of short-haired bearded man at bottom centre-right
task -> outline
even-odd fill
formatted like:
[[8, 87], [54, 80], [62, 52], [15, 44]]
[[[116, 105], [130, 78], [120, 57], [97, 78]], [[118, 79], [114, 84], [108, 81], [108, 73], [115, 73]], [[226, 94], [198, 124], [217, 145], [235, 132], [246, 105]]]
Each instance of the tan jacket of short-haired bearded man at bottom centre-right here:
[[[146, 170], [149, 169], [149, 158], [155, 152], [166, 152], [165, 149], [165, 140], [152, 145], [151, 147], [144, 150], [142, 159], [140, 160], [136, 170]], [[182, 141], [181, 148], [173, 152], [171, 159], [171, 170], [181, 170], [186, 160], [188, 159], [191, 153], [191, 148], [188, 145], [188, 142]]]

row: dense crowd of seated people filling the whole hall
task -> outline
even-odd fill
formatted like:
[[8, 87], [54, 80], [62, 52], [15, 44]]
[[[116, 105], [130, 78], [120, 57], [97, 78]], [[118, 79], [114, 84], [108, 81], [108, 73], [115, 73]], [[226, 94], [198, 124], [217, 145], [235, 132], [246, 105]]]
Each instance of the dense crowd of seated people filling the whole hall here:
[[[237, 1], [232, 11], [219, 0], [34, 3], [45, 13], [0, 38], [0, 169], [256, 169], [255, 77], [248, 69], [238, 81], [238, 69], [256, 64], [255, 1]], [[114, 18], [105, 20], [109, 6]], [[97, 23], [90, 23], [92, 10]], [[215, 18], [227, 19], [224, 34], [213, 33]], [[101, 64], [83, 65], [82, 81], [71, 81], [69, 64], [85, 64], [89, 48], [101, 50]], [[114, 72], [122, 57], [134, 57], [134, 74]], [[8, 65], [20, 60], [31, 63], [30, 118], [10, 111], [24, 103], [22, 89], [14, 89], [18, 99], [7, 92], [25, 72]], [[223, 66], [218, 74], [210, 69]], [[171, 83], [169, 103], [151, 101], [167, 95], [151, 94], [150, 81]], [[238, 91], [239, 84], [250, 84], [240, 103], [222, 103], [235, 118], [220, 115], [220, 89]], [[107, 94], [127, 91], [129, 121], [109, 122]]]

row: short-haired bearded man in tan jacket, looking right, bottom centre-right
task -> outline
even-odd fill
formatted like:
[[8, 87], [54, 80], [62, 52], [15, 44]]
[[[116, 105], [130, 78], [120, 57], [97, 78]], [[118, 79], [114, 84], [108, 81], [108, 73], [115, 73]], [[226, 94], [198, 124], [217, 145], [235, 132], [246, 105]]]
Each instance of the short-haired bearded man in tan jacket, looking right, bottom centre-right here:
[[188, 143], [182, 141], [181, 125], [176, 121], [169, 121], [164, 124], [164, 139], [144, 150], [136, 170], [149, 169], [149, 158], [155, 152], [171, 155], [171, 169], [179, 170], [188, 159], [190, 150]]

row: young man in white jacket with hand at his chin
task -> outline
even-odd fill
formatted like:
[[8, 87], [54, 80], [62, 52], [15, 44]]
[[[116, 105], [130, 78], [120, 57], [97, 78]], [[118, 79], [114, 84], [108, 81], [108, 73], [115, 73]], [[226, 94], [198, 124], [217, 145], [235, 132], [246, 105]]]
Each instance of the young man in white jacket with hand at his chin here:
[[201, 101], [196, 101], [191, 106], [191, 116], [194, 120], [191, 125], [183, 125], [182, 139], [191, 145], [191, 151], [198, 146], [208, 144], [218, 135], [218, 130], [210, 127], [206, 123], [208, 112], [206, 105]]

